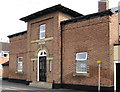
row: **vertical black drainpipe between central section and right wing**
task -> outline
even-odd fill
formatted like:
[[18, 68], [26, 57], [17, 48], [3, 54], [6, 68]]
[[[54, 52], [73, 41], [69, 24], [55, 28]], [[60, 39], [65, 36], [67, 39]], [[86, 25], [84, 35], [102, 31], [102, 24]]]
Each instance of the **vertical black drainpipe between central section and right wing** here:
[[62, 63], [62, 26], [63, 26], [63, 23], [61, 22], [60, 23], [60, 26], [61, 26], [61, 88], [63, 87], [63, 63]]

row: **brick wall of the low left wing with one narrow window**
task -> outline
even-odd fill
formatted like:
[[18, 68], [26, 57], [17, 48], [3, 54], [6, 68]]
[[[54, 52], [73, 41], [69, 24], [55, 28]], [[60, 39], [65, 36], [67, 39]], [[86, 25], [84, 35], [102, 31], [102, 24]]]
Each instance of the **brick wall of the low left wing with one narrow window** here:
[[[26, 80], [27, 34], [10, 38], [9, 78]], [[18, 57], [23, 57], [23, 73], [17, 73]]]

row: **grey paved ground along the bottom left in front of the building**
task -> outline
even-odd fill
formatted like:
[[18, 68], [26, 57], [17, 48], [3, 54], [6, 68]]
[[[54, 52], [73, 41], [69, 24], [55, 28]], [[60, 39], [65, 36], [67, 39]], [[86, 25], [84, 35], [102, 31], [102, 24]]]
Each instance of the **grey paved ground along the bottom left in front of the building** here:
[[0, 78], [0, 92], [85, 92], [71, 89], [41, 89], [21, 83], [8, 82]]

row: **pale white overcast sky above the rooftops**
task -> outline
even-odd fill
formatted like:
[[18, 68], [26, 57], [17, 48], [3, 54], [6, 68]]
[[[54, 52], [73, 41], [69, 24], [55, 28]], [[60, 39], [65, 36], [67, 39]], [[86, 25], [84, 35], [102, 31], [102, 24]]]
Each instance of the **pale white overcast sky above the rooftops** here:
[[[81, 14], [98, 11], [99, 0], [1, 0], [0, 39], [27, 30], [27, 24], [19, 19], [45, 8], [62, 4]], [[120, 0], [109, 0], [109, 8], [117, 7]]]

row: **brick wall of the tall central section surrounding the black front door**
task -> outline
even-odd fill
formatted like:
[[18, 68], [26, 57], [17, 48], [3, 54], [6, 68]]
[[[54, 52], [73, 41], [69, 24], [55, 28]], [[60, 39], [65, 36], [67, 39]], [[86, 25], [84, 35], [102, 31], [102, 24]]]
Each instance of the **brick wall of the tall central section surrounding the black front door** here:
[[[70, 16], [55, 12], [43, 17], [31, 20], [28, 22], [28, 41], [27, 41], [27, 48], [28, 48], [28, 57], [27, 61], [30, 65], [28, 67], [28, 80], [37, 81], [37, 64], [38, 61], [35, 60], [35, 71], [33, 71], [33, 62], [30, 60], [29, 57], [34, 56], [35, 52], [41, 46], [48, 50], [49, 56], [53, 57], [52, 60], [52, 71], [49, 72], [49, 60], [47, 60], [47, 82], [53, 82], [55, 80], [56, 83], [60, 83], [60, 60], [61, 60], [61, 52], [60, 52], [60, 37], [61, 37], [61, 30], [60, 30], [60, 21], [65, 19], [71, 19]], [[33, 40], [39, 40], [39, 27], [41, 24], [46, 24], [46, 38], [53, 37], [53, 40], [46, 41], [45, 44], [40, 45], [38, 43], [31, 44], [30, 42]], [[48, 57], [48, 56], [47, 56]], [[32, 74], [32, 75], [31, 75]]]

